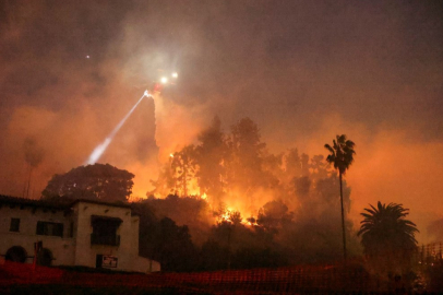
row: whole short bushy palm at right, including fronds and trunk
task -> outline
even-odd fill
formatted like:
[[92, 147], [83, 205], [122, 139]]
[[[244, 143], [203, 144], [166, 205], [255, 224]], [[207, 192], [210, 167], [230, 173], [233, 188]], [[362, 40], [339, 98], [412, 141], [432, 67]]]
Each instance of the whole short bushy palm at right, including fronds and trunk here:
[[408, 209], [402, 204], [382, 204], [364, 209], [361, 215], [361, 245], [369, 262], [379, 273], [398, 273], [410, 271], [411, 255], [417, 249], [416, 224], [405, 219]]

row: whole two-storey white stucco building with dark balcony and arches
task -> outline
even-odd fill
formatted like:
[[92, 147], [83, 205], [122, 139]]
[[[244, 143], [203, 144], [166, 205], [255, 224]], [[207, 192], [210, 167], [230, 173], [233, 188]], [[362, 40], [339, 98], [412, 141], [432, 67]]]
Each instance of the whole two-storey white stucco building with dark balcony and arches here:
[[159, 271], [158, 262], [139, 256], [139, 221], [129, 204], [76, 200], [56, 205], [0, 196], [0, 259]]

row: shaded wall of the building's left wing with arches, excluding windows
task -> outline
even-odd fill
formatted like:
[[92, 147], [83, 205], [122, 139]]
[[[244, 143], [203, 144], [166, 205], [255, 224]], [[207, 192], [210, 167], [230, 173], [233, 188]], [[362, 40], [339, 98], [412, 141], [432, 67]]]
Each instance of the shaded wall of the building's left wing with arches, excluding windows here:
[[[10, 232], [11, 219], [20, 219], [20, 232]], [[37, 222], [55, 222], [63, 224], [63, 237], [37, 235]], [[5, 256], [13, 246], [23, 247], [26, 262], [34, 260], [34, 243], [43, 241], [43, 247], [52, 253], [53, 266], [73, 264], [75, 240], [70, 237], [72, 216], [63, 211], [51, 211], [40, 208], [2, 205], [0, 208], [0, 255]]]

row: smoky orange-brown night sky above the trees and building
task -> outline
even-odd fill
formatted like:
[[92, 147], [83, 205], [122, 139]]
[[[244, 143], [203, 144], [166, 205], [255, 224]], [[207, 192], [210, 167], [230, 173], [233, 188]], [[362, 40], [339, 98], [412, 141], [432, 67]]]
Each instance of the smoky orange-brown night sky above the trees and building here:
[[273, 153], [355, 141], [356, 220], [403, 203], [424, 240], [443, 219], [441, 1], [0, 0], [0, 64], [2, 194], [23, 196], [31, 164], [37, 198], [178, 71], [100, 160], [136, 175], [135, 197], [215, 115], [226, 131], [250, 117]]

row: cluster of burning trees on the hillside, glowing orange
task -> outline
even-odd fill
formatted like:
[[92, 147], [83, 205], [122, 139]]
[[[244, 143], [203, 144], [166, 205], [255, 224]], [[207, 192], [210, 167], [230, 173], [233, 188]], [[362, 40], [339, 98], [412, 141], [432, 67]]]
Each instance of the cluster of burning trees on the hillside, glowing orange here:
[[[336, 198], [340, 187], [338, 173], [322, 155], [310, 157], [297, 149], [277, 155], [270, 153], [256, 123], [249, 118], [231, 126], [229, 133], [223, 132], [219, 119], [215, 118], [200, 133], [195, 145], [173, 153], [159, 179], [153, 184], [156, 196], [161, 191], [165, 192], [159, 196], [161, 198], [169, 193], [180, 194], [181, 198], [175, 197], [177, 200], [200, 190], [202, 198], [195, 197], [195, 200], [208, 204], [202, 209], [205, 213], [200, 214], [207, 220], [206, 227], [201, 223], [204, 219], [177, 220], [170, 214], [173, 209], [158, 212], [166, 212], [178, 224], [190, 225], [192, 235], [199, 236], [199, 244], [208, 252], [220, 251], [222, 256], [226, 251], [235, 256], [240, 250], [264, 253], [267, 248], [284, 249], [282, 251], [292, 262], [301, 263], [331, 261], [340, 256], [340, 228], [334, 226], [340, 222], [340, 216], [331, 214], [334, 210], [338, 212], [342, 204]], [[197, 185], [195, 190], [194, 185]], [[344, 209], [349, 209], [350, 189], [346, 181], [342, 182], [342, 191]], [[153, 203], [160, 208], [161, 202], [172, 198], [155, 200]], [[218, 208], [222, 209], [217, 211]], [[345, 227], [350, 232], [352, 223], [345, 220]], [[232, 231], [230, 243], [227, 243], [224, 228]], [[349, 244], [356, 252], [357, 237], [350, 237]], [[258, 245], [261, 245], [260, 249], [255, 248]]]

